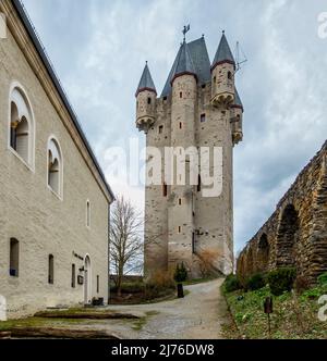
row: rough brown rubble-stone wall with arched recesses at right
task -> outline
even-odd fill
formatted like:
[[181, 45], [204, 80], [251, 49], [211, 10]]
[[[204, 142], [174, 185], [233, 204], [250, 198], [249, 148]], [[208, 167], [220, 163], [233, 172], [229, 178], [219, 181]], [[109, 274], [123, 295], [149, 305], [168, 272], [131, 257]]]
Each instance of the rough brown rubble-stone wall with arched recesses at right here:
[[238, 259], [241, 278], [294, 266], [312, 284], [327, 271], [327, 142]]

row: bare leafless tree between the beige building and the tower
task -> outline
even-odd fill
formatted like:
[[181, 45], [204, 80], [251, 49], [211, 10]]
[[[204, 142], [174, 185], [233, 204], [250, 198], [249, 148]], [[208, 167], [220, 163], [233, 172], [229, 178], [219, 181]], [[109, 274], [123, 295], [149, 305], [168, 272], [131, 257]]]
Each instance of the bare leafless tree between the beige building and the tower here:
[[143, 267], [143, 224], [142, 214], [131, 201], [119, 197], [110, 220], [110, 260], [117, 275], [119, 296], [123, 276], [132, 272], [141, 273]]

